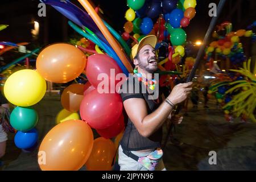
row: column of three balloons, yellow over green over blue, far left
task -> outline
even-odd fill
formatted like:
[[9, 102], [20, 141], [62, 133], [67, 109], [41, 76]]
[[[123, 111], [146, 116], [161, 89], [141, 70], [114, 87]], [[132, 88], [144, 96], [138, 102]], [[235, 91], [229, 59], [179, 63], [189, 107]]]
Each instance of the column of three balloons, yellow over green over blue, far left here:
[[7, 100], [16, 106], [10, 114], [11, 126], [18, 131], [14, 137], [16, 147], [34, 147], [38, 140], [38, 114], [31, 106], [42, 100], [46, 81], [37, 71], [23, 69], [7, 78], [3, 90]]

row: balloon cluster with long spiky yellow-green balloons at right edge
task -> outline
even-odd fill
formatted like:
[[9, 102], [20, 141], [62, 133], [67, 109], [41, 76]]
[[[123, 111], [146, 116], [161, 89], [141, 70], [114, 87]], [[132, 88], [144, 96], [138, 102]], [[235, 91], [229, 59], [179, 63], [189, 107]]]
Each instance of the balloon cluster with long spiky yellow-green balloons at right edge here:
[[253, 72], [250, 70], [251, 61], [243, 63], [240, 70], [231, 69], [234, 73], [222, 73], [216, 75], [216, 84], [212, 84], [208, 91], [208, 97], [215, 94], [217, 101], [224, 109], [226, 121], [232, 122], [233, 116], [242, 118], [246, 121], [250, 118], [256, 122], [254, 117], [255, 110], [255, 82], [256, 65]]

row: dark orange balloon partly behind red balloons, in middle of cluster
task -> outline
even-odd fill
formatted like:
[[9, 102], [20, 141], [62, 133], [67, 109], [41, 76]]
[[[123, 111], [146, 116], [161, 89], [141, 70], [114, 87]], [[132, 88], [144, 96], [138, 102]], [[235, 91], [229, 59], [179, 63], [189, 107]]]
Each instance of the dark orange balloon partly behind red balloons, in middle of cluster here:
[[84, 85], [72, 84], [64, 89], [61, 94], [61, 105], [71, 111], [76, 112], [80, 109], [80, 104], [84, 98]]

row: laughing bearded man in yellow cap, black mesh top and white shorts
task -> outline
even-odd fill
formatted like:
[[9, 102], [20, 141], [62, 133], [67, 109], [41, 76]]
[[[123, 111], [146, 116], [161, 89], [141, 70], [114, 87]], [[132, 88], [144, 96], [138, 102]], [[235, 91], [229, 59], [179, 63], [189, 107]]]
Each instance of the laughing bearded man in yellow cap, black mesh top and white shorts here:
[[[135, 44], [131, 53], [135, 65], [134, 75], [127, 78], [120, 89], [128, 116], [118, 151], [121, 171], [166, 170], [162, 160], [163, 151], [160, 149], [162, 125], [167, 118], [171, 118], [175, 105], [184, 101], [191, 91], [192, 83], [188, 82], [176, 85], [162, 103], [159, 98], [154, 98], [154, 93], [158, 92], [158, 80], [154, 77], [158, 69], [154, 48], [156, 42], [155, 35], [148, 35]], [[172, 118], [172, 122], [180, 123], [182, 119]]]

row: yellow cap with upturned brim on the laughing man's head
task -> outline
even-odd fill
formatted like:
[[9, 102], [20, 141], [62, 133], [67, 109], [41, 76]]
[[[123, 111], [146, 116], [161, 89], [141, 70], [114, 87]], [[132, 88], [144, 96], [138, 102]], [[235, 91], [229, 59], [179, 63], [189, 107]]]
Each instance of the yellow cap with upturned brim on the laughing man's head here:
[[139, 50], [147, 44], [150, 44], [150, 46], [155, 48], [155, 45], [157, 43], [158, 39], [155, 35], [147, 35], [144, 38], [141, 39], [141, 41], [138, 44], [135, 44], [133, 48], [131, 48], [131, 58], [134, 59], [134, 57], [137, 55]]

